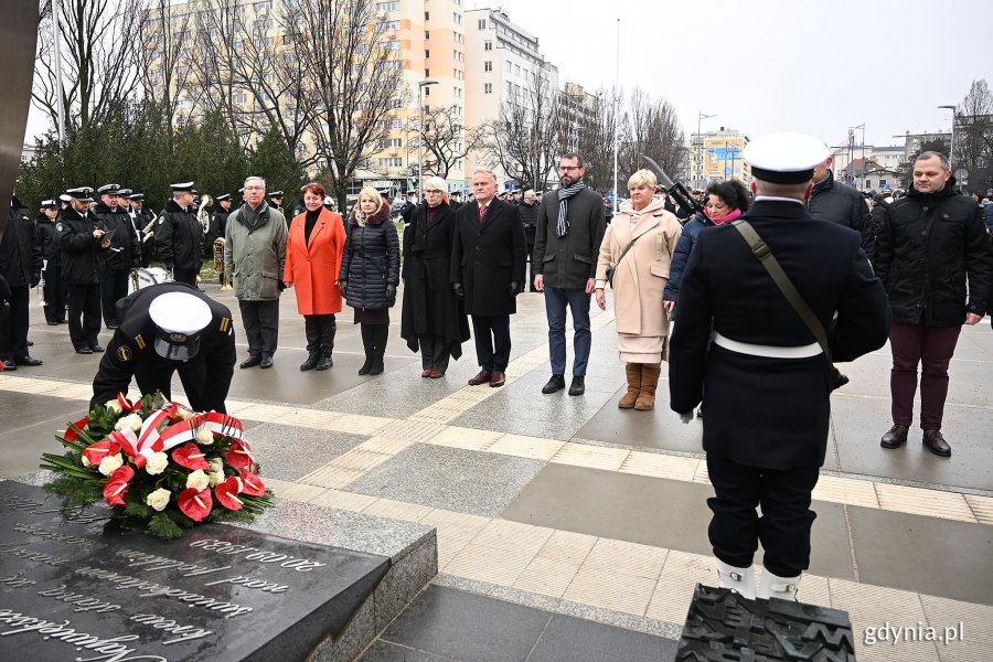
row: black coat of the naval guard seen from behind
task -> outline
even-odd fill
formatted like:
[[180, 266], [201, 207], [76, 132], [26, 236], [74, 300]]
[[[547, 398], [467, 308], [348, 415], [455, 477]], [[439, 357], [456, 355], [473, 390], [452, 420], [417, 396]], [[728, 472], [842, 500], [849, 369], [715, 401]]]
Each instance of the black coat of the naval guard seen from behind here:
[[[803, 205], [760, 200], [743, 215], [828, 329], [835, 362], [879, 349], [889, 307], [854, 229], [814, 222]], [[733, 227], [700, 233], [690, 255], [669, 357], [671, 406], [706, 394], [708, 456], [767, 469], [824, 462], [832, 384], [823, 354], [768, 359], [711, 344], [711, 329], [739, 342], [801, 346], [810, 330]], [[832, 317], [837, 312], [836, 321]]]

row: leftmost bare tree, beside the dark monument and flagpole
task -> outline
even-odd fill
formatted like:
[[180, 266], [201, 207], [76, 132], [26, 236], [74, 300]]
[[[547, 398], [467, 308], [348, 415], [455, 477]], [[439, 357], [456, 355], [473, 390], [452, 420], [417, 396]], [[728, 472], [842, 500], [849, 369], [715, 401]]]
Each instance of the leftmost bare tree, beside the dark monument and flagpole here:
[[136, 90], [140, 44], [131, 35], [143, 13], [142, 0], [66, 0], [60, 8], [63, 95], [57, 98], [51, 19], [46, 19], [39, 35], [32, 97], [53, 125], [62, 105], [71, 127], [89, 127], [109, 117]]

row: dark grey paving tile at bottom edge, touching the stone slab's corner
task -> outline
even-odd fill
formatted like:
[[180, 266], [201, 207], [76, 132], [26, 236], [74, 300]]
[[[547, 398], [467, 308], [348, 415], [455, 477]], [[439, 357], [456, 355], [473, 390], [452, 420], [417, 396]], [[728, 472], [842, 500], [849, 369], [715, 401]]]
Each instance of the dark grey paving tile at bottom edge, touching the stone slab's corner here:
[[456, 660], [524, 662], [551, 618], [530, 607], [430, 586], [381, 639]]

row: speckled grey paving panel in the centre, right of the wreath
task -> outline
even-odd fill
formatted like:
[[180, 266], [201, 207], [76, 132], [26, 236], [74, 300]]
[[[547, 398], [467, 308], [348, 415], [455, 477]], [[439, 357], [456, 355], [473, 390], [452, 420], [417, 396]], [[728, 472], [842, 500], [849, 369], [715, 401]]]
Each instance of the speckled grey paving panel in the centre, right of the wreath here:
[[524, 458], [417, 444], [344, 489], [493, 517], [543, 466]]

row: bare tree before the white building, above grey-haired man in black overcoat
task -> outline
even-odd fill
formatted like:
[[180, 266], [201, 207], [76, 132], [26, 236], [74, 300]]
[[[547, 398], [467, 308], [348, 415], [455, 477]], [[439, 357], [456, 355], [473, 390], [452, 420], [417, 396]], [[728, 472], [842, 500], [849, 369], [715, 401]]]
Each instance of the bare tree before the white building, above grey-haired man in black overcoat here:
[[541, 71], [532, 76], [532, 84], [504, 99], [500, 117], [487, 122], [483, 152], [521, 185], [541, 190], [559, 156], [562, 116], [558, 90], [548, 88]]

